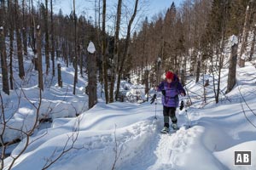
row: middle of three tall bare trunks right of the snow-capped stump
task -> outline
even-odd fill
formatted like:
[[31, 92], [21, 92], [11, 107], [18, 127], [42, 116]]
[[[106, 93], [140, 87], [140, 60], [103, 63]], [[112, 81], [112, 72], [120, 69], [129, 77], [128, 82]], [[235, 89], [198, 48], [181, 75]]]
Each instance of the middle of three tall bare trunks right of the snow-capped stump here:
[[117, 68], [119, 65], [119, 30], [120, 30], [120, 21], [121, 21], [121, 10], [122, 10], [122, 0], [118, 2], [117, 8], [117, 19], [115, 24], [115, 33], [114, 33], [114, 45], [113, 45], [113, 63], [112, 63], [112, 75], [109, 89], [109, 102], [113, 103], [113, 91], [114, 91], [114, 82], [117, 73]]

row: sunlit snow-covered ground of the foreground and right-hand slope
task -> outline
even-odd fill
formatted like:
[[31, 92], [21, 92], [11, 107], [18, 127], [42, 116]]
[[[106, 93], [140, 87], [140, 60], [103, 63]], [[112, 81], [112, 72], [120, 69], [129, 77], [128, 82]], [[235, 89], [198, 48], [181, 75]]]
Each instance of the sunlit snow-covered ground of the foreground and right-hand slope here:
[[[155, 105], [149, 102], [105, 105], [99, 100], [90, 111], [75, 118], [56, 118], [51, 127], [34, 134], [13, 169], [42, 169], [63, 150], [71, 148], [49, 169], [105, 170], [112, 169], [113, 165], [114, 169], [122, 170], [256, 169], [255, 72], [250, 63], [238, 68], [236, 87], [226, 96], [221, 94], [218, 105], [211, 98], [212, 77], [207, 77], [210, 80], [207, 105], [200, 97], [202, 81], [190, 82], [186, 88], [193, 105], [186, 109], [192, 127], [186, 128], [189, 123], [185, 109], [177, 111], [181, 127], [177, 133], [160, 134], [163, 126], [160, 99], [156, 105], [157, 119], [154, 119]], [[221, 75], [223, 92], [227, 73], [224, 70]], [[11, 156], [19, 154], [24, 143], [25, 140], [20, 142]], [[251, 150], [252, 166], [234, 166], [235, 150]], [[11, 157], [6, 158], [5, 165], [10, 161]]]

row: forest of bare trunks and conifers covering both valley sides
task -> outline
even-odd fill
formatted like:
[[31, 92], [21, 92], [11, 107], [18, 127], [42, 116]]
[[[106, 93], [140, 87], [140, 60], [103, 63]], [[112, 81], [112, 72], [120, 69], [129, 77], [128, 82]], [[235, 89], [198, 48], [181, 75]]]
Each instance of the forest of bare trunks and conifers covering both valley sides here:
[[[139, 12], [138, 6], [140, 3], [147, 3], [145, 1], [135, 1], [131, 16], [122, 16], [125, 14], [122, 12], [125, 7], [122, 7], [123, 3], [119, 0], [116, 14], [112, 16], [115, 17], [115, 22], [111, 31], [106, 30], [106, 18], [109, 17], [106, 13], [107, 1], [95, 2], [95, 14], [98, 15], [95, 23], [86, 19], [83, 14], [78, 16], [75, 8], [69, 15], [63, 15], [61, 10], [55, 14], [53, 3], [55, 2], [52, 0], [45, 0], [44, 3], [33, 0], [1, 1], [4, 93], [9, 94], [9, 89], [14, 89], [14, 58], [19, 62], [20, 79], [26, 76], [24, 61], [32, 60], [35, 71], [39, 72], [38, 77], [41, 77], [38, 79], [41, 89], [44, 89], [43, 74], [55, 77], [55, 58], [64, 59], [67, 66], [75, 69], [75, 87], [77, 77], [83, 77], [86, 69], [85, 49], [90, 41], [96, 44], [96, 70], [99, 82], [104, 84], [107, 103], [118, 99], [120, 80], [127, 80], [134, 73], [138, 75], [137, 82], [145, 84], [148, 91], [159, 82], [160, 74], [167, 70], [177, 73], [183, 84], [187, 74], [195, 75], [198, 81], [201, 72], [209, 71], [209, 68], [220, 71], [226, 53], [225, 41], [232, 35], [238, 37], [242, 44], [238, 54], [241, 66], [244, 63], [241, 56], [245, 53], [247, 37], [251, 31], [253, 42], [250, 53], [246, 54], [247, 59], [251, 60], [254, 53], [254, 1], [186, 0], [178, 8], [172, 3], [171, 7], [155, 14], [152, 19], [146, 16], [135, 31], [132, 26]], [[127, 26], [121, 24], [124, 18], [129, 20]], [[125, 30], [126, 35], [120, 37], [120, 30]], [[7, 39], [9, 43], [5, 42]], [[32, 56], [27, 53], [28, 47], [32, 48]], [[45, 56], [45, 71], [42, 71], [41, 66], [42, 54]], [[213, 61], [213, 55], [218, 59]], [[189, 72], [186, 68], [188, 62]]]

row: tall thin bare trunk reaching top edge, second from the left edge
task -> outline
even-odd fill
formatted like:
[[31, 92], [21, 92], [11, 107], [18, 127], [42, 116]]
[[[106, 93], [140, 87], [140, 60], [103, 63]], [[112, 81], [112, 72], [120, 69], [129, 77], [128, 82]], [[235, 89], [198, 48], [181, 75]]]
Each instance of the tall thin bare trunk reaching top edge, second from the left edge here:
[[13, 82], [13, 54], [14, 54], [14, 28], [13, 28], [13, 3], [12, 0], [8, 0], [9, 10], [9, 85], [10, 89], [14, 89]]

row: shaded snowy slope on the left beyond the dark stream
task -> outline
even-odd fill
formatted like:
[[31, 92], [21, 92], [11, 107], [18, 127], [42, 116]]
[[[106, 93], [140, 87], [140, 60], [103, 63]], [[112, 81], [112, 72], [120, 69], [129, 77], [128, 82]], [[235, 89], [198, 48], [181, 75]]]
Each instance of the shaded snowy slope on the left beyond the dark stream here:
[[[18, 59], [13, 60], [14, 67], [14, 90], [10, 90], [10, 95], [2, 94], [4, 116], [6, 127], [3, 133], [4, 142], [10, 142], [14, 139], [22, 139], [22, 133], [29, 132], [37, 119], [37, 110], [39, 106], [39, 88], [38, 71], [34, 70], [32, 64], [32, 49], [28, 48], [28, 56], [24, 59], [24, 68], [26, 76], [23, 80], [18, 76]], [[77, 83], [76, 95], [73, 95], [73, 66], [67, 65], [62, 59], [55, 60], [55, 67], [61, 64], [61, 77], [63, 87], [58, 87], [57, 69], [55, 68], [55, 77], [52, 77], [52, 69], [46, 74], [45, 58], [43, 56], [44, 71], [44, 91], [42, 92], [42, 102], [38, 112], [38, 120], [56, 117], [73, 117], [76, 114], [88, 110], [88, 96], [85, 94], [87, 77], [80, 77]], [[50, 62], [51, 65], [51, 62]], [[2, 76], [0, 74], [0, 76]], [[2, 81], [0, 83], [2, 87]], [[3, 122], [3, 116], [1, 116]], [[38, 129], [49, 127], [49, 123], [38, 126]], [[3, 132], [3, 123], [0, 125], [0, 131]]]

